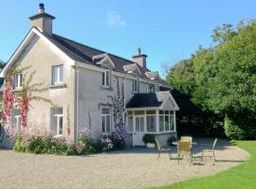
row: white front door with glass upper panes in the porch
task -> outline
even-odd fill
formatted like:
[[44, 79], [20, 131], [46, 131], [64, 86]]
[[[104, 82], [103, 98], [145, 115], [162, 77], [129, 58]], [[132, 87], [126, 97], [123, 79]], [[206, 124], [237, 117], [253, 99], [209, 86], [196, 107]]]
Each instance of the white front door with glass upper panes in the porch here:
[[144, 146], [142, 138], [145, 134], [144, 116], [135, 117], [135, 127], [133, 134], [133, 146]]

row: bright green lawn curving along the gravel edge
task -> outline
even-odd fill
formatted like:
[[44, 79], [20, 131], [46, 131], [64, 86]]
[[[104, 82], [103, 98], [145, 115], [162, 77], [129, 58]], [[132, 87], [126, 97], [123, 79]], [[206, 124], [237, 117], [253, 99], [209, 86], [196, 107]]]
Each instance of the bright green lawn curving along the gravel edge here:
[[[236, 145], [250, 153], [250, 159], [214, 176], [176, 182], [160, 189], [250, 189], [256, 188], [256, 141], [239, 141]], [[230, 154], [232, 155], [232, 154]]]

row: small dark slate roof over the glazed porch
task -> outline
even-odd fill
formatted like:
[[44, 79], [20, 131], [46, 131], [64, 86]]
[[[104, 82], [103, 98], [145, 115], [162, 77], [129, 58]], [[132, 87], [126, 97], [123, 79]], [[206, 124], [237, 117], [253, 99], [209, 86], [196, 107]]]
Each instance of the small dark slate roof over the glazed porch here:
[[126, 108], [148, 108], [160, 107], [163, 102], [167, 101], [170, 92], [155, 92], [149, 94], [135, 94], [132, 99], [127, 103]]

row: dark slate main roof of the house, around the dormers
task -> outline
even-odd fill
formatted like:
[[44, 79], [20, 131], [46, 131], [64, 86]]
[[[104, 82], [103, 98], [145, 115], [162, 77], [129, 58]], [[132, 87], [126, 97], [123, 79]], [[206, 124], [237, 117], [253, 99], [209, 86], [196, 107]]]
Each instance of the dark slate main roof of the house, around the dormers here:
[[[62, 36], [56, 35], [56, 34], [52, 34], [51, 36], [46, 35], [46, 34], [44, 34], [44, 35], [46, 36], [46, 38], [49, 41], [51, 41], [56, 46], [58, 46], [62, 51], [64, 51], [64, 53], [67, 56], [69, 56], [71, 59], [80, 61], [83, 63], [99, 66], [95, 63], [95, 61], [93, 61], [93, 57], [97, 56], [97, 55], [101, 55], [103, 53], [107, 53], [107, 52], [101, 51], [99, 49], [84, 45], [82, 43], [77, 43], [72, 40], [68, 40], [68, 39], [66, 39]], [[110, 59], [113, 61], [113, 63], [115, 64], [114, 70], [117, 72], [126, 73], [125, 70], [123, 69], [123, 66], [136, 63], [132, 60], [126, 60], [126, 59], [120, 58], [120, 57], [110, 54], [110, 53], [107, 53], [107, 54], [110, 57]], [[150, 70], [143, 68], [143, 67], [139, 66], [138, 64], [137, 64], [137, 66], [141, 72], [141, 77], [148, 78], [145, 75], [145, 73], [150, 72]]]

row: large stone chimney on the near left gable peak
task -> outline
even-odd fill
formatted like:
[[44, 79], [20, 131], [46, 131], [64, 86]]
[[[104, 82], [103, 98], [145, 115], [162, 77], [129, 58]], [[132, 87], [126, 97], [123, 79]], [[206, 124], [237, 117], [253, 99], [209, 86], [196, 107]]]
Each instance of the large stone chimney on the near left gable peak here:
[[30, 16], [29, 19], [31, 21], [31, 27], [37, 27], [47, 35], [52, 34], [52, 20], [55, 17], [45, 12], [45, 5], [43, 3], [39, 4], [38, 13]]

